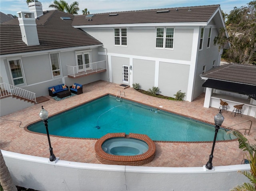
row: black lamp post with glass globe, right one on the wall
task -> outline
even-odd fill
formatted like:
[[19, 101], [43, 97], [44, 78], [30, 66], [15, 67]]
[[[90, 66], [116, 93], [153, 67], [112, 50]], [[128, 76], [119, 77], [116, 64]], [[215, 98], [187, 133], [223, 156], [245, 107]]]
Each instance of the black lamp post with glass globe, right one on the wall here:
[[213, 140], [213, 144], [212, 144], [212, 152], [210, 154], [210, 158], [209, 158], [209, 161], [206, 163], [206, 168], [207, 169], [212, 169], [212, 158], [213, 158], [213, 150], [214, 150], [214, 146], [215, 146], [215, 142], [216, 142], [216, 137], [217, 137], [217, 133], [218, 133], [218, 130], [220, 129], [220, 126], [221, 124], [223, 123], [224, 121], [224, 117], [223, 115], [221, 114], [221, 110], [220, 112], [214, 116], [214, 123], [215, 123], [215, 135], [214, 135], [214, 140]]

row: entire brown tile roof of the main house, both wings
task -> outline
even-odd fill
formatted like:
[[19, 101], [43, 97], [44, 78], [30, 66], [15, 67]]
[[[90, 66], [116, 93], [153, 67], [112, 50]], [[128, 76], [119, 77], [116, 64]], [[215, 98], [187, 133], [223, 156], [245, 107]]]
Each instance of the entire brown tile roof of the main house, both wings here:
[[[117, 16], [103, 13], [95, 14], [90, 21], [85, 15], [74, 16], [57, 10], [46, 11], [36, 20], [40, 45], [27, 46], [22, 41], [18, 19], [1, 24], [0, 55], [102, 44], [83, 30], [72, 27], [76, 25], [207, 22], [219, 6], [116, 12]], [[157, 13], [163, 10], [169, 12]], [[71, 20], [61, 20], [60, 17], [70, 17]]]

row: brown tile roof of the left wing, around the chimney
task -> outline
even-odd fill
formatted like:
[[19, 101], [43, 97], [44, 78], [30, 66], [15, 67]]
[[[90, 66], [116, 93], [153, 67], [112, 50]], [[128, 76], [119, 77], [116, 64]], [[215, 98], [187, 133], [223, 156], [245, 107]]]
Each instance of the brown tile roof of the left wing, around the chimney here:
[[[62, 20], [60, 17], [70, 17], [71, 20]], [[88, 33], [72, 27], [72, 20], [74, 15], [65, 12], [44, 12], [44, 15], [36, 20], [40, 45], [33, 46], [28, 46], [22, 41], [18, 18], [5, 22], [0, 26], [0, 55], [102, 45]]]

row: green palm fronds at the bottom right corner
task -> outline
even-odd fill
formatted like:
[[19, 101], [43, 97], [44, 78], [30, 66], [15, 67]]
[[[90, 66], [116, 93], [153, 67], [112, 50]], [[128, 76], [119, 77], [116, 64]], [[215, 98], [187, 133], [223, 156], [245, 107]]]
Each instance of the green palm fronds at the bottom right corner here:
[[[246, 154], [246, 158], [250, 162], [250, 171], [239, 171], [248, 179], [250, 183], [243, 183], [242, 185], [237, 185], [230, 191], [255, 191], [256, 190], [256, 144], [250, 145], [248, 140], [238, 131], [230, 132], [238, 138], [239, 148], [244, 151], [248, 151], [249, 156]], [[254, 139], [256, 140], [256, 139]]]

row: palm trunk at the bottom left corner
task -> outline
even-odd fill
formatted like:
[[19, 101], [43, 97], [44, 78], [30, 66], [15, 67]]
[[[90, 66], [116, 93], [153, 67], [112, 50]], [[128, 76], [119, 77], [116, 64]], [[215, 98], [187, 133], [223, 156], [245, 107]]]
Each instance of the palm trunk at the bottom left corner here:
[[17, 191], [17, 188], [12, 181], [12, 177], [10, 175], [8, 167], [5, 164], [4, 157], [2, 155], [1, 150], [0, 150], [0, 161], [1, 161], [1, 164], [0, 164], [1, 186], [3, 187], [4, 191]]

